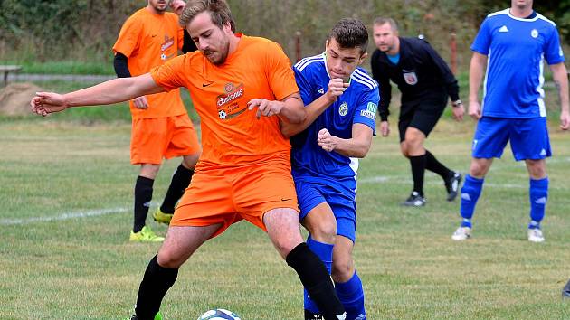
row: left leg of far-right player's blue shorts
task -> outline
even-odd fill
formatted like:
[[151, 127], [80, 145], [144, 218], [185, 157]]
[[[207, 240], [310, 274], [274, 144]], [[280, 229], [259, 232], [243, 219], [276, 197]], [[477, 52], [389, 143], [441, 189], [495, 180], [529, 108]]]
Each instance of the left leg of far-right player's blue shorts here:
[[510, 136], [512, 119], [483, 117], [477, 122], [471, 145], [474, 158], [500, 158]]

